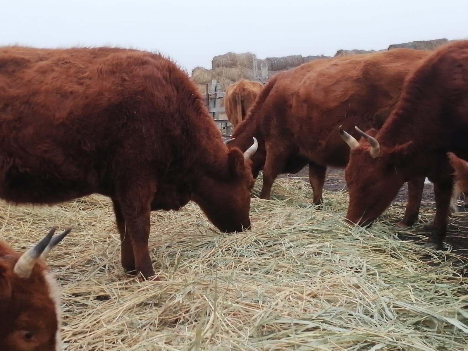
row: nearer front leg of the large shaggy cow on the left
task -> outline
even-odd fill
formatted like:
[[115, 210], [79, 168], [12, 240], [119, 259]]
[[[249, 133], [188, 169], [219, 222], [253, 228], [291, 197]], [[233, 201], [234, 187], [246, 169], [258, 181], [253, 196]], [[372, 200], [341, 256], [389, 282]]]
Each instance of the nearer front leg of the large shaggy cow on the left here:
[[126, 231], [130, 233], [132, 242], [135, 272], [140, 273], [146, 279], [154, 277], [153, 263], [148, 249], [151, 201], [154, 194], [155, 191], [152, 191], [150, 186], [146, 186], [128, 189], [119, 197]]

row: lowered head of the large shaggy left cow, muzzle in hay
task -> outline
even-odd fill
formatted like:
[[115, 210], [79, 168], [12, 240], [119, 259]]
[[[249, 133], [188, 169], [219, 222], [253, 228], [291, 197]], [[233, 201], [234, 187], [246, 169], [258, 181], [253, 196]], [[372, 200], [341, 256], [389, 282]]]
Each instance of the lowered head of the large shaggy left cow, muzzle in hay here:
[[254, 186], [250, 159], [257, 147], [253, 138], [253, 144], [244, 153], [239, 148], [227, 150], [224, 176], [205, 177], [193, 192], [193, 200], [221, 232], [250, 228], [250, 194]]

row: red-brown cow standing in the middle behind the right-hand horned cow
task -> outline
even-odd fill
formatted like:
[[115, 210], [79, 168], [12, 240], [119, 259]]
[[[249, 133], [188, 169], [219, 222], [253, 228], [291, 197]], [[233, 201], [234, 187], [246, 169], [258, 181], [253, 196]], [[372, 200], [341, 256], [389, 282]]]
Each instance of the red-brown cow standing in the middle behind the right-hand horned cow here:
[[[409, 70], [427, 55], [428, 51], [395, 49], [322, 59], [273, 77], [229, 143], [245, 150], [252, 137], [258, 139], [252, 171], [256, 177], [263, 168], [260, 197], [270, 197], [278, 174], [296, 173], [308, 163], [313, 202], [321, 204], [327, 167], [344, 168], [348, 163], [349, 149], [336, 132], [338, 126], [379, 128]], [[423, 187], [424, 177], [409, 180], [410, 198], [400, 226], [417, 220]]]

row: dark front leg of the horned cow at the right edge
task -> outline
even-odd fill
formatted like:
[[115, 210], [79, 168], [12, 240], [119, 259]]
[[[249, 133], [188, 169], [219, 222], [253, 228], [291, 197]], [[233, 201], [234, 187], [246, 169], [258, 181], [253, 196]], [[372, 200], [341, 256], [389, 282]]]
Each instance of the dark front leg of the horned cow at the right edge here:
[[436, 216], [434, 218], [431, 234], [424, 244], [431, 249], [442, 249], [442, 241], [447, 232], [447, 219], [452, 197], [452, 183], [434, 183], [434, 197], [436, 200]]

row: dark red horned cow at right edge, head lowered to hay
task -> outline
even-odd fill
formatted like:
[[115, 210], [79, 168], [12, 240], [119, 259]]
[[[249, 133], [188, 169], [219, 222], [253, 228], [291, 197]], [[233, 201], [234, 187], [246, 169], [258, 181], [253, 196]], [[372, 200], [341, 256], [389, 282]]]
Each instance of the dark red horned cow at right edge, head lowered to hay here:
[[436, 216], [425, 246], [442, 248], [453, 185], [446, 153], [468, 158], [467, 134], [468, 41], [457, 41], [434, 51], [409, 74], [395, 109], [375, 138], [350, 143], [346, 219], [372, 223], [403, 182], [427, 175], [434, 184]]

